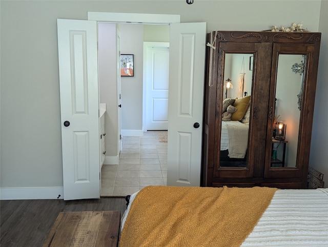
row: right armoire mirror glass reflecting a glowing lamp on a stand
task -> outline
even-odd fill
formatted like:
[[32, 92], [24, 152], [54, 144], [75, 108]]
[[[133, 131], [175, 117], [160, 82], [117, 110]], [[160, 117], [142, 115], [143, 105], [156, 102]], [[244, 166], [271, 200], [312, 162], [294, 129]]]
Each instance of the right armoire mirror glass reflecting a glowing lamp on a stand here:
[[306, 55], [279, 54], [271, 168], [296, 168]]

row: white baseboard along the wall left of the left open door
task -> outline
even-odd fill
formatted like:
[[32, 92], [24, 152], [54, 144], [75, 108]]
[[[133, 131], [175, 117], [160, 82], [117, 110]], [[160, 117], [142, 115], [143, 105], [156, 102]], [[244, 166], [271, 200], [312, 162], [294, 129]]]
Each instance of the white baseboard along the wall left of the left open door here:
[[1, 200], [64, 199], [64, 188], [63, 187], [0, 188], [0, 199]]

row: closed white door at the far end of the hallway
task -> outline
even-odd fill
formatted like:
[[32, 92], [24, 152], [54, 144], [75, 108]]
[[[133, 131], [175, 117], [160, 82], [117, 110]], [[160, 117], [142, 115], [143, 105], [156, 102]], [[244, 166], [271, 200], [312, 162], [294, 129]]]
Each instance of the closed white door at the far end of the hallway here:
[[168, 129], [169, 43], [147, 46], [147, 130]]

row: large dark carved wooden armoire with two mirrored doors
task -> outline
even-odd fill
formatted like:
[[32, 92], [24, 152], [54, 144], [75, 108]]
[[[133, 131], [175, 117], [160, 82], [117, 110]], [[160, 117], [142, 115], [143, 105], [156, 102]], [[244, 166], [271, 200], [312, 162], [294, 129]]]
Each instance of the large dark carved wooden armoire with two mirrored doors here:
[[[207, 35], [203, 187], [307, 187], [320, 38], [312, 32]], [[223, 101], [233, 99], [234, 105], [245, 96], [250, 96], [248, 114], [223, 122]], [[231, 127], [223, 129], [233, 122], [248, 129], [244, 155], [234, 156], [232, 150], [240, 146], [238, 135], [245, 135], [232, 138]], [[223, 143], [227, 133], [228, 144]]]

